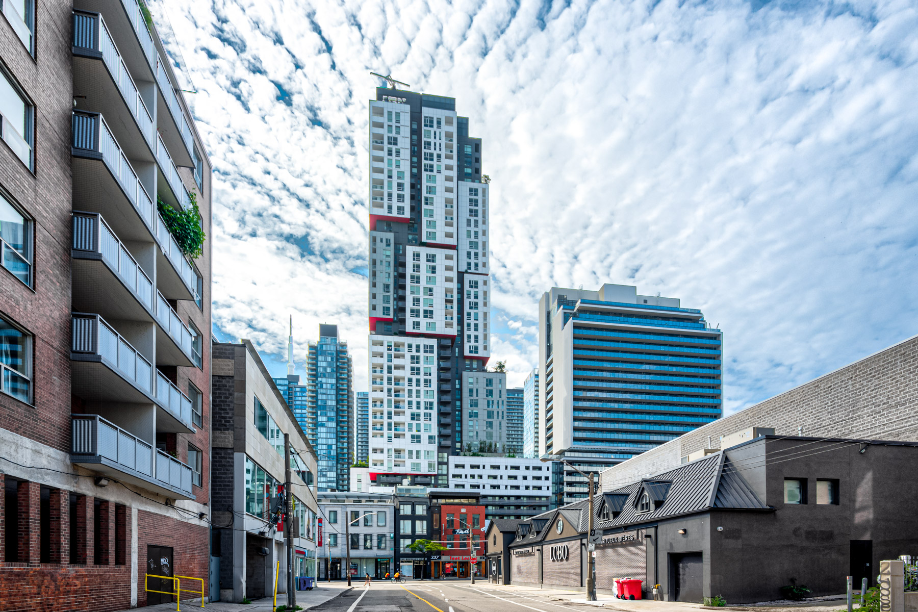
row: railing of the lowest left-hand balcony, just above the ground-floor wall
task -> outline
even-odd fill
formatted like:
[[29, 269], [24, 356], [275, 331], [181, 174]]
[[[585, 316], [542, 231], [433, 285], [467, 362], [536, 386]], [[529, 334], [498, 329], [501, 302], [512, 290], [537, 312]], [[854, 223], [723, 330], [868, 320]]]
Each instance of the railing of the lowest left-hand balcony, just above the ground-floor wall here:
[[97, 415], [72, 415], [71, 454], [98, 455], [133, 472], [152, 477], [153, 447]]

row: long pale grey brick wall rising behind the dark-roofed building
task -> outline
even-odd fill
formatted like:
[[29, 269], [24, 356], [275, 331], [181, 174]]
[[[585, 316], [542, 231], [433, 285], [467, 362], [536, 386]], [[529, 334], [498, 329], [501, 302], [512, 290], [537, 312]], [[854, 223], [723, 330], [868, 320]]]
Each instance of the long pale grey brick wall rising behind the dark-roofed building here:
[[[602, 473], [602, 490], [677, 466], [690, 452], [719, 449], [721, 436], [751, 427], [802, 435], [918, 441], [918, 337], [689, 431]], [[709, 447], [709, 438], [711, 446]]]

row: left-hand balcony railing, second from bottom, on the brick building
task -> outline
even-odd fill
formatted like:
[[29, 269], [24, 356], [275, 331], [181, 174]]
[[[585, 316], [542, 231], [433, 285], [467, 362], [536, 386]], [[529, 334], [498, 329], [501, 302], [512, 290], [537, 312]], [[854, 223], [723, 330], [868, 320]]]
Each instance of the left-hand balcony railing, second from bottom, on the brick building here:
[[141, 391], [152, 396], [150, 362], [98, 315], [73, 313], [71, 351], [95, 354]]

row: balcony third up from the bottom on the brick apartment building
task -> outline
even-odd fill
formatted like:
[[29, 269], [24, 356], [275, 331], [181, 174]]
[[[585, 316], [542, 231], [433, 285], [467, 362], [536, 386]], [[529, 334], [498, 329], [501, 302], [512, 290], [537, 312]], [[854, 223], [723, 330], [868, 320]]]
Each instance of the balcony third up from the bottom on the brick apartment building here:
[[71, 256], [74, 308], [112, 320], [155, 321], [157, 364], [194, 365], [191, 331], [101, 215], [73, 212]]

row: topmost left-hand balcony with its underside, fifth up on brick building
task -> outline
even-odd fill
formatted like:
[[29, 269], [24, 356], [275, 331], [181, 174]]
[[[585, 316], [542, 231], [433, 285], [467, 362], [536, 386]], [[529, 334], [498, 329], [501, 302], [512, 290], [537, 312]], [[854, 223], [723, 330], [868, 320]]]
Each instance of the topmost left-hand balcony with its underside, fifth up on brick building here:
[[98, 13], [73, 11], [73, 93], [101, 111], [132, 160], [153, 161], [153, 119]]

